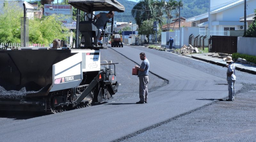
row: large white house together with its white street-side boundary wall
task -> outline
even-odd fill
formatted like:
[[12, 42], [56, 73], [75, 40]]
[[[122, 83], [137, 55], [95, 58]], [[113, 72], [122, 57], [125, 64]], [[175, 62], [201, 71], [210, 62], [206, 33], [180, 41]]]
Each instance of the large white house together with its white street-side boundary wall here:
[[[246, 0], [246, 5], [248, 5], [246, 13], [248, 15], [253, 14], [256, 9], [256, 0]], [[196, 45], [196, 43], [200, 45], [202, 41], [205, 42], [201, 45], [208, 46], [207, 39], [210, 38], [210, 35], [243, 35], [244, 23], [240, 21], [243, 16], [244, 0], [210, 0], [210, 11], [208, 13], [186, 19], [186, 22], [195, 23], [196, 27], [181, 26], [180, 30], [163, 32], [161, 44], [165, 46], [166, 41], [172, 36], [175, 48], [188, 44]], [[249, 21], [246, 29], [248, 23]]]

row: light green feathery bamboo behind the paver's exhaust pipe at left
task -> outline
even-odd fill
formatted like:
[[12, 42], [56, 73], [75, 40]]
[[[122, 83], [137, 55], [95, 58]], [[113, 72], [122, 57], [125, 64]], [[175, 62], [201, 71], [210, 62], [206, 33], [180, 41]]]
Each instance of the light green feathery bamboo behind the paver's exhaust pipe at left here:
[[[16, 4], [18, 5], [18, 4]], [[20, 17], [23, 10], [15, 4], [4, 4], [0, 14], [0, 42], [20, 43]], [[68, 29], [59, 21], [63, 16], [51, 15], [42, 19], [29, 20], [29, 42], [48, 44], [54, 39], [67, 37]]]

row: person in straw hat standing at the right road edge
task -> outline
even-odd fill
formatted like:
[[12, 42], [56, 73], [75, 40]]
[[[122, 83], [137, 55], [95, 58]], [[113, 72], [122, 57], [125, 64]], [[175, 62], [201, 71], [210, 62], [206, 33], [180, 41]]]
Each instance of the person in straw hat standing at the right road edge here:
[[235, 97], [235, 82], [236, 82], [236, 66], [234, 61], [232, 61], [232, 57], [227, 56], [227, 58], [223, 59], [227, 62], [227, 81], [228, 81], [228, 99], [226, 101], [234, 101]]

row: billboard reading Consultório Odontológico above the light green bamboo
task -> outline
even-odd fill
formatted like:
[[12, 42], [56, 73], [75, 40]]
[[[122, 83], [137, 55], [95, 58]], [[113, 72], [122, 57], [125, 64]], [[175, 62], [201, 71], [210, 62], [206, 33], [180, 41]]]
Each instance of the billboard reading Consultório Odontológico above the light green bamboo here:
[[72, 23], [71, 5], [44, 4], [44, 16], [50, 16], [52, 14], [62, 14], [65, 16], [64, 19], [61, 19], [62, 23]]

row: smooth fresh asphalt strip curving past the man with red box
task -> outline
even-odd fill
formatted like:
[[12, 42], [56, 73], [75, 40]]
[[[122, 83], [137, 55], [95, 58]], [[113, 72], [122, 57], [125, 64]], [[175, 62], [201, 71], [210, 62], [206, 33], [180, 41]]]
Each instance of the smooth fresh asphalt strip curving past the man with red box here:
[[[128, 46], [113, 49], [141, 63], [139, 53], [143, 50]], [[131, 97], [9, 123], [0, 126], [1, 141], [112, 141], [202, 107], [212, 102], [209, 98], [227, 97], [226, 79], [145, 53], [150, 71], [169, 80], [168, 85], [149, 93], [148, 104], [135, 104], [138, 97]], [[241, 86], [236, 83], [237, 90]]]

